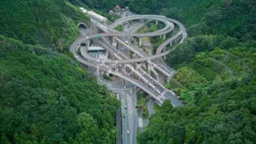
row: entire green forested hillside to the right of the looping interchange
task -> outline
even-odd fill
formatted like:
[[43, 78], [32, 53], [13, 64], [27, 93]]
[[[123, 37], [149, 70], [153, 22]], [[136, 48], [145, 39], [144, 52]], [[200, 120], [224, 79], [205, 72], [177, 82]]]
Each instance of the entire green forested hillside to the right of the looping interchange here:
[[178, 73], [165, 81], [186, 105], [157, 107], [139, 143], [256, 142], [255, 7], [238, 0], [131, 1], [132, 10], [164, 14], [188, 30], [185, 42], [169, 47], [166, 63]]

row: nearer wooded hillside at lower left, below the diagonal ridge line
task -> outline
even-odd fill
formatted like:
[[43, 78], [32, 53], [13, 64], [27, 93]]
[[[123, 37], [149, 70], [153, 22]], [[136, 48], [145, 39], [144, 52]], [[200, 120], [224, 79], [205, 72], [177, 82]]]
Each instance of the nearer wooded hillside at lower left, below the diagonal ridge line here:
[[0, 143], [113, 143], [118, 101], [72, 55], [0, 37]]

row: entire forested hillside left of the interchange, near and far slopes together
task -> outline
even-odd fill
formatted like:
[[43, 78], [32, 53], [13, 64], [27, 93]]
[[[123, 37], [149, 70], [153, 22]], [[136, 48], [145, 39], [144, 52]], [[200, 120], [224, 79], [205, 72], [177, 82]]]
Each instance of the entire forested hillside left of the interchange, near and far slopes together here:
[[78, 22], [68, 1], [0, 1], [0, 143], [115, 142], [118, 101], [68, 52]]

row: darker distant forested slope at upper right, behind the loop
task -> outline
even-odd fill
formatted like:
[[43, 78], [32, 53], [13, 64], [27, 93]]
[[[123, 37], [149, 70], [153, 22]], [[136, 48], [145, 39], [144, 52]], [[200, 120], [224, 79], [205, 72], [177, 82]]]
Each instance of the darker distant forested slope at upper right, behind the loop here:
[[256, 39], [256, 2], [249, 0], [130, 1], [130, 9], [142, 14], [163, 14], [185, 24], [188, 34], [219, 34], [239, 41]]

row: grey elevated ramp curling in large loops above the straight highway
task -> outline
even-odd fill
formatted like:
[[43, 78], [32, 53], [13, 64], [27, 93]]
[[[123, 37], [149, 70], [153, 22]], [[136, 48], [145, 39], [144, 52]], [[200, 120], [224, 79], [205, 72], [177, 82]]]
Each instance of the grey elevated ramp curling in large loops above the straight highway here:
[[[119, 20], [115, 21], [114, 25], [118, 25], [119, 22], [129, 21], [129, 20], [131, 20], [131, 19], [134, 20], [134, 19], [141, 19], [141, 18], [142, 18], [142, 19], [146, 19], [146, 18], [148, 18], [148, 19], [154, 19], [154, 20], [162, 21], [162, 22], [164, 22], [164, 23], [166, 24], [166, 27], [163, 28], [162, 30], [155, 31], [155, 32], [153, 32], [153, 33], [146, 33], [146, 34], [129, 34], [129, 33], [128, 33], [128, 34], [127, 34], [127, 33], [120, 33], [120, 32], [114, 31], [113, 29], [111, 29], [111, 27], [102, 26], [102, 24], [97, 23], [97, 26], [98, 26], [99, 28], [101, 28], [103, 31], [105, 31], [106, 33], [97, 34], [97, 35], [90, 35], [90, 36], [86, 36], [86, 37], [79, 38], [79, 39], [77, 39], [76, 42], [74, 42], [74, 43], [70, 46], [70, 51], [74, 54], [75, 58], [76, 58], [79, 62], [81, 62], [83, 65], [90, 66], [90, 67], [93, 67], [93, 68], [98, 68], [98, 69], [100, 69], [100, 70], [102, 70], [102, 71], [105, 71], [105, 72], [107, 72], [107, 73], [109, 73], [109, 74], [116, 75], [116, 76], [118, 76], [118, 77], [121, 77], [121, 78], [125, 79], [125, 80], [128, 81], [128, 82], [131, 82], [131, 83], [137, 85], [137, 86], [140, 87], [142, 90], [144, 90], [145, 92], [147, 92], [148, 94], [150, 94], [152, 97], [154, 97], [154, 98], [158, 101], [158, 103], [160, 103], [160, 104], [162, 104], [163, 101], [165, 100], [165, 99], [163, 98], [163, 96], [164, 96], [164, 97], [166, 97], [166, 98], [168, 98], [168, 99], [171, 100], [173, 106], [183, 106], [183, 103], [176, 97], [176, 95], [175, 95], [173, 92], [168, 91], [162, 84], [157, 84], [157, 86], [155, 86], [154, 84], [149, 83], [149, 80], [151, 80], [151, 76], [149, 76], [148, 74], [146, 74], [146, 72], [143, 71], [143, 69], [134, 70], [134, 71], [135, 71], [135, 73], [136, 73], [137, 75], [139, 75], [139, 76], [143, 79], [143, 81], [147, 82], [147, 83], [150, 85], [150, 87], [152, 87], [154, 90], [150, 89], [150, 87], [149, 87], [147, 84], [146, 84], [146, 85], [145, 85], [145, 84], [142, 84], [141, 82], [138, 82], [136, 79], [133, 79], [133, 78], [131, 78], [131, 77], [129, 77], [129, 76], [126, 76], [126, 75], [124, 75], [124, 74], [122, 74], [122, 73], [118, 73], [118, 72], [116, 72], [116, 71], [113, 71], [113, 70], [111, 70], [111, 69], [108, 68], [108, 67], [105, 67], [105, 66], [102, 66], [102, 65], [97, 64], [97, 61], [100, 62], [100, 60], [91, 59], [91, 58], [87, 57], [87, 55], [84, 55], [84, 56], [86, 56], [87, 59], [83, 59], [80, 55], [77, 54], [77, 50], [78, 50], [80, 44], [81, 44], [83, 41], [89, 40], [89, 39], [91, 39], [91, 38], [95, 38], [95, 37], [97, 37], [98, 35], [100, 35], [100, 36], [116, 36], [116, 37], [120, 37], [120, 36], [134, 36], [134, 37], [140, 36], [140, 37], [142, 37], [142, 36], [164, 35], [164, 34], [167, 34], [166, 31], [167, 31], [168, 33], [170, 33], [170, 31], [172, 31], [172, 30], [174, 29], [174, 25], [173, 25], [172, 22], [176, 23], [176, 24], [180, 27], [179, 33], [176, 34], [176, 35], [174, 35], [173, 37], [171, 37], [171, 38], [168, 39], [167, 41], [165, 41], [162, 45], [160, 45], [160, 46], [158, 47], [159, 50], [157, 49], [157, 50], [159, 51], [159, 53], [158, 53], [157, 55], [154, 55], [155, 57], [147, 57], [147, 55], [143, 54], [143, 52], [137, 51], [136, 49], [133, 49], [133, 47], [130, 47], [130, 46], [128, 45], [129, 49], [135, 51], [137, 54], [139, 54], [139, 55], [141, 56], [141, 58], [139, 58], [139, 59], [134, 59], [135, 62], [137, 62], [137, 61], [144, 61], [144, 60], [147, 60], [148, 62], [151, 62], [152, 59], [156, 59], [156, 58], [161, 59], [161, 52], [162, 52], [163, 48], [164, 48], [167, 44], [169, 44], [170, 42], [174, 41], [174, 40], [177, 39], [179, 36], [182, 36], [182, 41], [183, 41], [183, 39], [185, 39], [186, 36], [187, 36], [187, 34], [186, 34], [186, 29], [185, 29], [185, 28], [184, 28], [184, 29], [182, 28], [183, 25], [179, 25], [179, 24], [181, 24], [181, 23], [178, 23], [178, 21], [175, 21], [175, 20], [173, 20], [173, 19], [165, 18], [165, 17], [163, 17], [163, 16], [158, 16], [158, 15], [135, 15], [135, 16], [133, 16], [133, 17], [135, 17], [135, 18], [126, 17], [126, 18], [119, 19]], [[113, 25], [113, 26], [114, 26], [114, 25]], [[114, 32], [114, 33], [113, 33], [113, 32]], [[120, 41], [121, 41], [121, 40], [120, 40]], [[127, 45], [126, 45], [126, 46], [127, 46]], [[107, 47], [110, 47], [110, 46], [107, 45]], [[161, 49], [162, 49], [162, 50], [161, 50]], [[81, 50], [81, 51], [83, 51], [83, 50]], [[114, 51], [114, 53], [116, 53], [116, 52]], [[165, 52], [164, 54], [166, 54], [166, 53], [169, 53], [169, 51], [168, 51], [168, 52]], [[117, 56], [118, 56], [118, 55], [117, 55]], [[89, 59], [88, 59], [88, 58], [89, 58]], [[161, 65], [162, 65], [162, 63], [164, 63], [163, 61], [161, 61], [162, 59], [161, 59], [160, 61], [159, 61], [158, 59], [152, 60], [152, 63], [155, 64], [156, 66], [157, 66], [159, 63], [161, 63]], [[126, 59], [125, 59], [125, 60], [122, 60], [122, 58], [119, 57], [119, 60], [117, 60], [117, 61], [115, 61], [115, 60], [109, 60], [109, 63], [116, 63], [116, 62], [127, 63], [127, 61], [128, 61], [128, 62], [130, 62], [130, 61], [133, 62], [133, 60], [126, 60]], [[99, 62], [98, 62], [98, 63], [99, 63]], [[164, 63], [164, 64], [165, 64], [165, 63]], [[164, 64], [163, 64], [163, 65], [164, 65]], [[165, 65], [166, 65], [166, 64], [165, 64]], [[166, 66], [167, 66], [167, 65], [166, 65]], [[156, 67], [156, 68], [157, 68], [157, 67]], [[159, 66], [158, 66], [158, 69], [161, 69], [161, 70], [164, 69], [164, 70], [166, 70], [166, 68], [164, 68], [164, 67], [159, 67]], [[164, 70], [163, 70], [163, 71], [164, 71]], [[168, 69], [167, 69], [167, 70], [168, 70]], [[172, 69], [171, 69], [171, 70], [172, 70]], [[161, 72], [162, 72], [162, 71], [161, 71]], [[165, 71], [165, 74], [167, 74], [167, 73], [168, 73], [168, 71]], [[141, 74], [143, 74], [143, 76], [141, 76]], [[169, 74], [167, 74], [167, 75], [169, 75]], [[153, 80], [154, 80], [154, 79], [153, 79]], [[155, 81], [155, 80], [154, 80], [154, 81]]]

